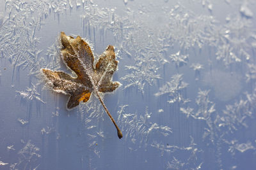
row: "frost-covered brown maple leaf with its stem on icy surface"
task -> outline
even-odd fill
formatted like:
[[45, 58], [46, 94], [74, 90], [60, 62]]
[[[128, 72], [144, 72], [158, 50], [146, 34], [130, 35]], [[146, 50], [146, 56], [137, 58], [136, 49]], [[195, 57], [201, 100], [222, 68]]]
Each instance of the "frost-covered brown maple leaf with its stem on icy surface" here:
[[81, 101], [86, 103], [91, 94], [95, 94], [115, 125], [118, 138], [122, 138], [122, 132], [99, 95], [99, 92], [113, 92], [120, 85], [119, 82], [112, 81], [118, 64], [113, 46], [109, 45], [100, 55], [97, 64], [93, 66], [92, 50], [80, 36], [75, 39], [61, 32], [61, 44], [63, 45], [61, 49], [63, 62], [76, 73], [77, 77], [72, 77], [63, 71], [42, 69], [48, 83], [54, 91], [70, 95], [67, 109], [78, 106]]

